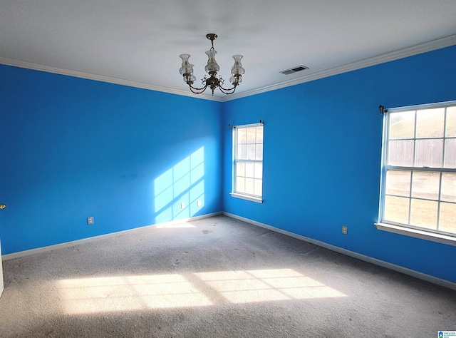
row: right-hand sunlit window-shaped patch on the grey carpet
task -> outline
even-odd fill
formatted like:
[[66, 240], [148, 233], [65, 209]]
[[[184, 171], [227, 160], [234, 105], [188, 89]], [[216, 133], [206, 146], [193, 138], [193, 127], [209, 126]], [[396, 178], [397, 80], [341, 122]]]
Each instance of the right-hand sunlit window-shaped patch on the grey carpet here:
[[201, 272], [195, 274], [229, 302], [346, 297], [291, 269]]

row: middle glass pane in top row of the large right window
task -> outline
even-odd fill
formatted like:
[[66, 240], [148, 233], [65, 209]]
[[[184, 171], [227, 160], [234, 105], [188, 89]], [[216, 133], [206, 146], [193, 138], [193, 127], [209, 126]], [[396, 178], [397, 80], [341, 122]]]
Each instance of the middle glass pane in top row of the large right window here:
[[442, 138], [445, 108], [423, 109], [416, 112], [416, 138]]

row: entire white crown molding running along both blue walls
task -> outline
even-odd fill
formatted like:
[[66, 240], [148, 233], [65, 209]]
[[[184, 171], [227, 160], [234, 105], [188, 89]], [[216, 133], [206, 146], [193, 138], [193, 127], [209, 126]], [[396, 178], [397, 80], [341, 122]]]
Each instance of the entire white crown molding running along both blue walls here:
[[264, 87], [252, 89], [249, 91], [243, 91], [240, 93], [234, 93], [232, 95], [223, 96], [223, 97], [212, 96], [210, 94], [205, 94], [205, 93], [195, 96], [194, 93], [192, 93], [190, 91], [183, 91], [181, 89], [157, 86], [157, 85], [152, 85], [150, 83], [130, 81], [130, 80], [125, 80], [123, 78], [113, 78], [110, 76], [96, 75], [96, 74], [85, 73], [85, 72], [81, 72], [81, 71], [71, 71], [68, 69], [56, 68], [56, 67], [51, 67], [51, 66], [43, 66], [38, 63], [19, 61], [19, 60], [14, 60], [11, 58], [1, 58], [0, 57], [0, 64], [4, 64], [6, 66], [19, 67], [19, 68], [27, 68], [27, 69], [31, 69], [31, 70], [35, 70], [35, 71], [46, 71], [48, 73], [56, 73], [56, 74], [65, 75], [65, 76], [73, 76], [76, 78], [86, 78], [88, 80], [94, 80], [94, 81], [115, 83], [115, 84], [119, 84], [119, 85], [123, 85], [123, 86], [148, 89], [151, 91], [161, 91], [164, 93], [170, 93], [170, 94], [175, 94], [175, 95], [180, 95], [180, 96], [189, 96], [191, 98], [200, 98], [200, 99], [204, 99], [204, 100], [217, 101], [217, 102], [227, 102], [227, 101], [236, 100], [237, 98], [244, 98], [247, 96], [257, 95], [260, 93], [266, 93], [268, 91], [275, 91], [276, 89], [280, 89], [280, 88], [296, 86], [298, 84], [315, 81], [320, 78], [327, 78], [329, 76], [334, 76], [334, 75], [338, 75], [341, 73], [347, 73], [349, 71], [356, 71], [361, 68], [375, 66], [380, 63], [395, 61], [400, 58], [406, 58], [408, 56], [414, 56], [414, 55], [418, 55], [420, 53], [426, 53], [428, 51], [435, 51], [440, 48], [445, 48], [445, 47], [454, 46], [454, 45], [456, 45], [456, 35], [447, 36], [446, 38], [437, 39], [437, 40], [429, 41], [426, 43], [420, 43], [419, 45], [400, 49], [399, 51], [392, 51], [390, 53], [384, 53], [379, 56], [373, 56], [372, 58], [365, 58], [361, 61], [348, 63], [343, 66], [338, 66], [338, 67], [328, 69], [326, 71], [318, 71], [316, 73], [312, 73], [312, 74], [309, 74], [306, 76], [300, 76], [298, 78], [293, 78], [289, 81], [274, 83], [269, 86], [264, 86]]

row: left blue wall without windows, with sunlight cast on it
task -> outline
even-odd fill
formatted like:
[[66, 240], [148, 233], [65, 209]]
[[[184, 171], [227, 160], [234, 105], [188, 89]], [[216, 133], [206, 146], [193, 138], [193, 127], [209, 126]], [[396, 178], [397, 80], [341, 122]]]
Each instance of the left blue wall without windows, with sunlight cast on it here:
[[3, 254], [221, 211], [221, 105], [0, 66]]

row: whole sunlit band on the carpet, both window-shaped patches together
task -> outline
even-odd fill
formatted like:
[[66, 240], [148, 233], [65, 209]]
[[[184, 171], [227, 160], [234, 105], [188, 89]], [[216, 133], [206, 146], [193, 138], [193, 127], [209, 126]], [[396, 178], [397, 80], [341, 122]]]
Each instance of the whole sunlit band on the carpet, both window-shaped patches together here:
[[66, 314], [347, 297], [292, 269], [75, 278], [56, 286]]

